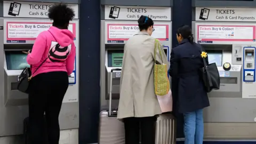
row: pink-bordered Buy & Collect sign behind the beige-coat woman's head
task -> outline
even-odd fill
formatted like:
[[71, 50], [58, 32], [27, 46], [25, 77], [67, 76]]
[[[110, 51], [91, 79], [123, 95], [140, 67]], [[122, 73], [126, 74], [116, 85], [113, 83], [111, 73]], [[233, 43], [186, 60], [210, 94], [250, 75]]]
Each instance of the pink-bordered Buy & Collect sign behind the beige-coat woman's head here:
[[[154, 25], [155, 31], [151, 35], [160, 41], [169, 41], [169, 25]], [[139, 32], [138, 25], [108, 24], [108, 43], [123, 43]]]

